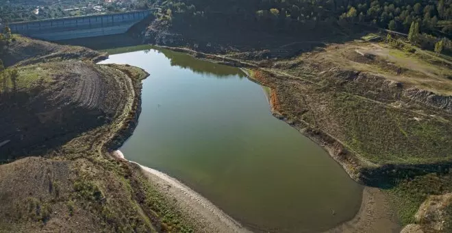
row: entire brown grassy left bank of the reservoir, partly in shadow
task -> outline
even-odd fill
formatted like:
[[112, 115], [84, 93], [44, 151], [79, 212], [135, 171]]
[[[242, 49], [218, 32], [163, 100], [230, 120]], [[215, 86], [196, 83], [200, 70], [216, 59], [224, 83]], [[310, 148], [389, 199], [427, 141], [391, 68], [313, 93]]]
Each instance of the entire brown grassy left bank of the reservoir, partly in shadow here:
[[[46, 45], [38, 51], [51, 45], [16, 40]], [[18, 60], [1, 73], [8, 121], [0, 136], [0, 232], [190, 232], [140, 167], [109, 153], [136, 124], [148, 74], [90, 56], [67, 59], [66, 49], [79, 48], [51, 46], [55, 61]]]

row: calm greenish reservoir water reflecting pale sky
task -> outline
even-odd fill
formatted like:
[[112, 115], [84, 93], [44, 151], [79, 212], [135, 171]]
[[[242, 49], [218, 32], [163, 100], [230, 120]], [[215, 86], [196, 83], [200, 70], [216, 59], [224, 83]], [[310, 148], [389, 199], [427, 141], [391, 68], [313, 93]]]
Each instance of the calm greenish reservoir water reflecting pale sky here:
[[136, 49], [112, 50], [122, 53], [103, 62], [151, 74], [125, 158], [184, 182], [250, 230], [319, 232], [354, 217], [362, 187], [273, 117], [264, 89], [240, 69]]

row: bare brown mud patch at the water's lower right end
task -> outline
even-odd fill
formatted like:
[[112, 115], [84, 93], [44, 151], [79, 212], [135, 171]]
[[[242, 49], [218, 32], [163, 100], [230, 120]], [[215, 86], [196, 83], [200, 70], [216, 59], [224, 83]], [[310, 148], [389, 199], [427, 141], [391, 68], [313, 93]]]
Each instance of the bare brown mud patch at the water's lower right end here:
[[379, 188], [365, 187], [356, 216], [325, 233], [400, 232], [401, 226], [386, 194]]

